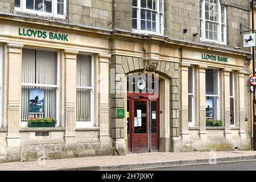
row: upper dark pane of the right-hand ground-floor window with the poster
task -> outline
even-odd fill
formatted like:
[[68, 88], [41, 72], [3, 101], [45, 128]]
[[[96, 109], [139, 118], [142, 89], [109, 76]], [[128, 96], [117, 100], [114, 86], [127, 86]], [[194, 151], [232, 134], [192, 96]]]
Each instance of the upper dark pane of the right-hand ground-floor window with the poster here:
[[218, 95], [218, 71], [207, 69], [205, 73], [206, 94]]

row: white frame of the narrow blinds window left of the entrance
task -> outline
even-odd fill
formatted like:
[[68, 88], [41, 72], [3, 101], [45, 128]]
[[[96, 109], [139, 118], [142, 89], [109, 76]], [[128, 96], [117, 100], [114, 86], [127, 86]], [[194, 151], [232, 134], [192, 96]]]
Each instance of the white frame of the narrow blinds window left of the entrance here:
[[[91, 86], [76, 86], [77, 89], [90, 89], [90, 121], [76, 121], [76, 128], [86, 128], [86, 127], [93, 127], [94, 126], [94, 55], [93, 54], [86, 54], [86, 53], [79, 53], [78, 55], [86, 55], [91, 57]], [[77, 56], [78, 56], [77, 55]], [[76, 69], [77, 72], [77, 69]], [[76, 96], [77, 97], [77, 96]]]

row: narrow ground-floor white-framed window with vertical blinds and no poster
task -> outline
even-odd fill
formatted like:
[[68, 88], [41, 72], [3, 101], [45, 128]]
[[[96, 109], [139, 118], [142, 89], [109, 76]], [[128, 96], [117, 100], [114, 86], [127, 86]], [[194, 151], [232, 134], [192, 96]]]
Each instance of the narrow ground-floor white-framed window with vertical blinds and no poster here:
[[93, 59], [77, 55], [76, 89], [77, 127], [93, 126]]

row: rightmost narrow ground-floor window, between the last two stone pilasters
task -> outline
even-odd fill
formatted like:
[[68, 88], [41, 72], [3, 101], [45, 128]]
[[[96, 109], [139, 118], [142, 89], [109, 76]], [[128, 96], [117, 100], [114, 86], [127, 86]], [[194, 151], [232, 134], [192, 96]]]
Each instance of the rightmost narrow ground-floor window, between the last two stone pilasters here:
[[235, 102], [234, 102], [234, 72], [230, 72], [229, 77], [229, 84], [230, 84], [230, 125], [235, 125]]

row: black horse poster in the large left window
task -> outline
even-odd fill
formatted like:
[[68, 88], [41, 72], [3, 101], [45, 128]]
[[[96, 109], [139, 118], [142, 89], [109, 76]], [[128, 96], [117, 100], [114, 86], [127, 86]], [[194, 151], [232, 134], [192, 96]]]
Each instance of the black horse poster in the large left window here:
[[44, 113], [44, 90], [43, 89], [30, 89], [30, 114], [43, 114]]

